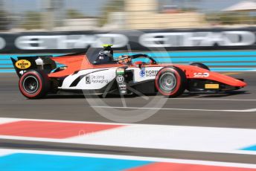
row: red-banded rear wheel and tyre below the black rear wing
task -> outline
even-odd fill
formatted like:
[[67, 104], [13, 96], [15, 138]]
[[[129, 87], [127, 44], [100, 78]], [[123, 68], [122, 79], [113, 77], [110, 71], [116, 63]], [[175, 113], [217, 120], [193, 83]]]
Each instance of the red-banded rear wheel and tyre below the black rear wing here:
[[19, 80], [19, 90], [29, 99], [45, 97], [49, 85], [48, 76], [43, 71], [26, 71]]

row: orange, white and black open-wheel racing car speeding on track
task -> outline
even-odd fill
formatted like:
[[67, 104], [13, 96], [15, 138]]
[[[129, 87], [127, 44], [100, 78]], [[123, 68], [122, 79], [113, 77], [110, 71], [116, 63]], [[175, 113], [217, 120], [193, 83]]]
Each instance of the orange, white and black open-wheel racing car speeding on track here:
[[[96, 54], [96, 59], [92, 56]], [[88, 94], [157, 94], [178, 97], [185, 90], [217, 93], [246, 86], [243, 79], [210, 71], [208, 66], [159, 64], [147, 54], [113, 57], [112, 45], [96, 53], [37, 56], [12, 59], [19, 90], [29, 99], [59, 91]], [[57, 65], [62, 65], [57, 67]]]

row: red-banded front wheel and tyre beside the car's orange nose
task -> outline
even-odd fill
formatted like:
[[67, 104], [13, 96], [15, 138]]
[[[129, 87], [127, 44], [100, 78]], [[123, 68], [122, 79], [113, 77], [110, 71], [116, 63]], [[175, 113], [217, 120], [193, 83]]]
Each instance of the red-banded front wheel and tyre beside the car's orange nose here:
[[187, 78], [185, 73], [176, 67], [162, 68], [156, 75], [156, 89], [166, 97], [177, 97], [185, 91]]

